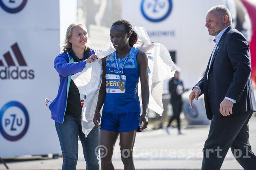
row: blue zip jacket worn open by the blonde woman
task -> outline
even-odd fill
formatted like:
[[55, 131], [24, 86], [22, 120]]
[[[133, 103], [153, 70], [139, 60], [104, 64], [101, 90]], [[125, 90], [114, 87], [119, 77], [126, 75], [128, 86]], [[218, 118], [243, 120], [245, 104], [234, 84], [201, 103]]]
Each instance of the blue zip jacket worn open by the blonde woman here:
[[[94, 50], [90, 50], [88, 55], [94, 54]], [[69, 52], [59, 54], [54, 59], [54, 68], [59, 73], [60, 86], [57, 97], [49, 106], [52, 112], [52, 119], [58, 123], [63, 123], [65, 111], [67, 107], [68, 90], [71, 81], [71, 76], [75, 73], [81, 72], [85, 67], [86, 61], [75, 62]]]

